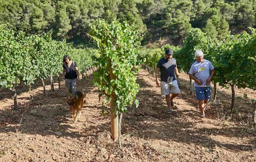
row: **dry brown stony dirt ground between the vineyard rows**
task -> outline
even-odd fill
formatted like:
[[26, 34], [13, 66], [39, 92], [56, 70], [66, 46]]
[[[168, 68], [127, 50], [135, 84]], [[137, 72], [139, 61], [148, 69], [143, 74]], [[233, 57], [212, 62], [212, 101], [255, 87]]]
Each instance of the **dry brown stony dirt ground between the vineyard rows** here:
[[[140, 91], [135, 105], [123, 114], [122, 147], [110, 139], [110, 115], [101, 116], [102, 100], [92, 77], [82, 80], [78, 90], [86, 94], [82, 119], [73, 123], [65, 103], [68, 95], [61, 82], [46, 96], [41, 83], [18, 86], [18, 111], [14, 111], [10, 90], [0, 89], [1, 162], [255, 162], [256, 131], [252, 128], [249, 99], [256, 93], [236, 89], [235, 113], [229, 114], [231, 90], [218, 87], [217, 102], [210, 101], [206, 118], [199, 118], [189, 78], [181, 74], [181, 94], [174, 100], [174, 114], [166, 113], [164, 96], [152, 74], [142, 69], [137, 82]], [[56, 79], [55, 79], [56, 80]], [[246, 93], [249, 99], [242, 96]], [[212, 94], [213, 96], [213, 94]]]

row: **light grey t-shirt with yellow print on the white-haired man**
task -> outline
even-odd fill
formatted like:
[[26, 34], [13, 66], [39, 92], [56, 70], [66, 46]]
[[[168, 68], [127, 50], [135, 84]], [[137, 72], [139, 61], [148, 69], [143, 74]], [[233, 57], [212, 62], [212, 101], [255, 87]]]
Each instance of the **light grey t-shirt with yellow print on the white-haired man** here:
[[203, 84], [199, 85], [194, 82], [196, 87], [210, 87], [210, 83], [207, 84], [206, 80], [210, 77], [210, 71], [214, 69], [212, 63], [208, 60], [203, 62], [194, 62], [190, 68], [189, 74], [194, 75], [196, 79], [200, 80]]

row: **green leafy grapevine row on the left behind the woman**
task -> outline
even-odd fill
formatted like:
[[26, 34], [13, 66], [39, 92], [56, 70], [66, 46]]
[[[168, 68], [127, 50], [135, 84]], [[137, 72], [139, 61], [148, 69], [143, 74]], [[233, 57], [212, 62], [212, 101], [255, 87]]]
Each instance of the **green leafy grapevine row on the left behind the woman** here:
[[34, 80], [43, 82], [48, 77], [52, 82], [52, 76], [59, 77], [62, 72], [64, 55], [69, 55], [78, 64], [82, 78], [87, 76], [87, 72], [91, 73], [91, 69], [95, 70], [95, 49], [74, 49], [65, 40], [52, 40], [51, 35], [52, 32], [31, 36], [24, 32], [14, 34], [12, 29], [0, 25], [0, 88], [14, 91], [15, 109], [16, 85], [31, 87]]

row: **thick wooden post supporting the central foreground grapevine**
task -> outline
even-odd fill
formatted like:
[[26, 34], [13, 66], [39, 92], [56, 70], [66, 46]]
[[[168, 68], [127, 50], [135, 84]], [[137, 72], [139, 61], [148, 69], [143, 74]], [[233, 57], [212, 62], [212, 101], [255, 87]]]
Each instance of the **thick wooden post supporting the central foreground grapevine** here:
[[[112, 64], [109, 65], [110, 79], [116, 79], [112, 72]], [[116, 94], [114, 91], [111, 93], [111, 101], [110, 101], [110, 112], [111, 112], [111, 138], [114, 140], [118, 138], [118, 112], [114, 110], [114, 100], [116, 98]]]

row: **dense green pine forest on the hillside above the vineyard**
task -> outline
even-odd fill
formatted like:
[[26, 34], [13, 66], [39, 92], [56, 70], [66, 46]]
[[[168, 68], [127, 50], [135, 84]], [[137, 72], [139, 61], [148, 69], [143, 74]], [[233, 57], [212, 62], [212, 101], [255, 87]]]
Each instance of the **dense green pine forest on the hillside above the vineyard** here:
[[[98, 18], [127, 21], [144, 34], [143, 45], [167, 38], [179, 45], [191, 28], [214, 40], [255, 27], [255, 0], [0, 0], [0, 24], [14, 31], [85, 43]], [[86, 43], [87, 44], [87, 43]]]

